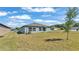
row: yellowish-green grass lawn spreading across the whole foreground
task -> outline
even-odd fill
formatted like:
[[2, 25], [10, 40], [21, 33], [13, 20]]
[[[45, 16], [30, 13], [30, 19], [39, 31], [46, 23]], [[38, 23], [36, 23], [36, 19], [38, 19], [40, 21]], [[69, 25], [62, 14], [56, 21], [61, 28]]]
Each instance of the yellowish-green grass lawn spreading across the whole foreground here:
[[[63, 40], [46, 41], [60, 38]], [[70, 32], [69, 40], [62, 31], [42, 32], [33, 34], [16, 34], [10, 32], [0, 38], [2, 51], [77, 51], [79, 50], [79, 32]]]

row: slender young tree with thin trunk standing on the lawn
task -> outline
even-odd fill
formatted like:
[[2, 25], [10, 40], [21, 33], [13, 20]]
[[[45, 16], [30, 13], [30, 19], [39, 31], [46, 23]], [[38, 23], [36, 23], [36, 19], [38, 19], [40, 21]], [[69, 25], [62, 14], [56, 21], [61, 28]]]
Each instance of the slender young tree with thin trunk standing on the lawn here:
[[69, 39], [69, 30], [73, 27], [75, 24], [74, 18], [78, 15], [78, 8], [71, 7], [68, 8], [66, 13], [66, 22], [65, 22], [65, 31], [67, 32], [67, 40]]

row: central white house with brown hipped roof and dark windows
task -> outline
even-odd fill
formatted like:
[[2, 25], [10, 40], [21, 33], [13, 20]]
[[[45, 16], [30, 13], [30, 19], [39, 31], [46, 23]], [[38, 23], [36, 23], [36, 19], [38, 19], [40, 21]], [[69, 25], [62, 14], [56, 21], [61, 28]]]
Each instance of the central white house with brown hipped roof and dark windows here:
[[22, 33], [36, 33], [36, 32], [48, 32], [48, 31], [51, 31], [51, 28], [49, 26], [38, 23], [25, 25], [21, 27], [21, 29], [19, 30], [19, 32]]

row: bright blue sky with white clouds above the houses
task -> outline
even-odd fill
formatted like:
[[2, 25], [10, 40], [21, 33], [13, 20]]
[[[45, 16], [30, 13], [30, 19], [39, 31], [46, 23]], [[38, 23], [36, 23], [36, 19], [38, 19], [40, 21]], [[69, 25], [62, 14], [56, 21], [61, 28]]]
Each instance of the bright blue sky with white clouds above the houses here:
[[[21, 27], [33, 22], [54, 25], [64, 23], [67, 7], [0, 7], [0, 23]], [[79, 17], [76, 18], [76, 21]]]

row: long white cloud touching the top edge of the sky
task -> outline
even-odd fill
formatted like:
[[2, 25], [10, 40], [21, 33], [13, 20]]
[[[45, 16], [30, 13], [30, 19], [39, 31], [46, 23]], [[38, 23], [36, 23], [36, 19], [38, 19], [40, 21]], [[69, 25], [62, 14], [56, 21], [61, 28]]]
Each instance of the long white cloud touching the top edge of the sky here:
[[51, 7], [42, 7], [42, 8], [22, 7], [22, 9], [30, 12], [56, 12], [54, 8]]

